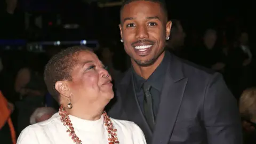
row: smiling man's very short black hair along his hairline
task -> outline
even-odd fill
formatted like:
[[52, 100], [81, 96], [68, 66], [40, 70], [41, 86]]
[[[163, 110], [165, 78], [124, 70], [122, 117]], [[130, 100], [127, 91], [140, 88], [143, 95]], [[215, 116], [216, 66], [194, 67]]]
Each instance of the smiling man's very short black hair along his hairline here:
[[[166, 15], [166, 19], [168, 18], [168, 11], [167, 11], [167, 8], [166, 8], [166, 3], [164, 0], [125, 0], [121, 6], [121, 9], [120, 9], [120, 20], [121, 20], [121, 15], [122, 15], [122, 11], [124, 9], [124, 6], [127, 5], [127, 4], [130, 4], [132, 2], [137, 2], [137, 1], [148, 1], [148, 2], [153, 2], [153, 3], [158, 3], [160, 4], [164, 14]], [[122, 21], [121, 21], [122, 23]]]

